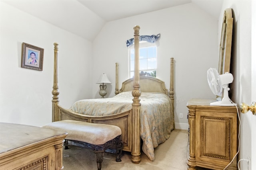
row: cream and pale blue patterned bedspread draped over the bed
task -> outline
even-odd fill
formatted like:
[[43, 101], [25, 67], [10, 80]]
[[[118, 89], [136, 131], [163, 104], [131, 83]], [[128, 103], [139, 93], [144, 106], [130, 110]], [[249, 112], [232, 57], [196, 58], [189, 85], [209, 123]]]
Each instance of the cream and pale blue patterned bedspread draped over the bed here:
[[[75, 102], [70, 109], [85, 115], [111, 115], [132, 109], [132, 92], [112, 98], [86, 99]], [[166, 94], [142, 92], [140, 96], [142, 150], [154, 160], [154, 148], [170, 137], [173, 129], [172, 103]]]

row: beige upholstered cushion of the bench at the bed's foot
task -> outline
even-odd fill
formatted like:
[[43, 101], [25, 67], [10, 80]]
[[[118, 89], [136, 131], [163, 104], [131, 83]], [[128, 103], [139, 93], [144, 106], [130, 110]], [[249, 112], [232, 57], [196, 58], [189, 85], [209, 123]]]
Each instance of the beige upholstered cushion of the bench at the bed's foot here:
[[66, 131], [68, 136], [65, 139], [82, 141], [94, 145], [102, 145], [122, 134], [118, 126], [74, 120], [55, 121], [42, 127]]

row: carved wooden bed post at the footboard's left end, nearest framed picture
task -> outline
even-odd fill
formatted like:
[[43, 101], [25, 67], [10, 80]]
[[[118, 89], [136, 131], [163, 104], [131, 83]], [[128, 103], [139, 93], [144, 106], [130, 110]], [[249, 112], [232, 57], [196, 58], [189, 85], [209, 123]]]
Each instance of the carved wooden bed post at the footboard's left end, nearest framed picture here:
[[58, 121], [59, 87], [58, 87], [58, 43], [54, 43], [54, 71], [52, 87], [52, 121]]

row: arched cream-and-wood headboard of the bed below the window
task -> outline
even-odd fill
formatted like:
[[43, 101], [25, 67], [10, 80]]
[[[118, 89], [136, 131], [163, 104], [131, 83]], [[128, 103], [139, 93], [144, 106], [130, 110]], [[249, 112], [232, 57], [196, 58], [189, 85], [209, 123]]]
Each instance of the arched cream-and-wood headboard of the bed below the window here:
[[[122, 83], [120, 92], [127, 92], [133, 90], [133, 78], [130, 78]], [[168, 95], [168, 89], [164, 82], [158, 78], [150, 76], [140, 76], [140, 90], [142, 92], [160, 92]]]

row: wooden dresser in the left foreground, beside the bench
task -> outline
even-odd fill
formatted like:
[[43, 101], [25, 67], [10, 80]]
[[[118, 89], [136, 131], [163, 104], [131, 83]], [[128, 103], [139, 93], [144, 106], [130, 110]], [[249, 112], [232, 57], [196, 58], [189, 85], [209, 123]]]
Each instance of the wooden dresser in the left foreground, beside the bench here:
[[0, 123], [1, 170], [61, 170], [66, 132]]

